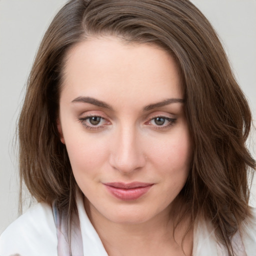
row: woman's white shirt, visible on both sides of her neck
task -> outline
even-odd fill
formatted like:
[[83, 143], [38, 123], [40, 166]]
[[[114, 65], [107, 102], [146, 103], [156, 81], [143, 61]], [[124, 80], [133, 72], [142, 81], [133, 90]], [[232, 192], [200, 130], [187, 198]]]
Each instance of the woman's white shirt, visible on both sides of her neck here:
[[[84, 256], [107, 256], [103, 244], [77, 198], [78, 217]], [[244, 222], [242, 232], [232, 242], [239, 256], [256, 255], [256, 218]], [[57, 234], [52, 208], [37, 203], [12, 222], [0, 236], [0, 255], [18, 253], [21, 256], [57, 256]], [[217, 244], [210, 223], [200, 222], [194, 228], [193, 256], [225, 256], [226, 250]], [[81, 255], [73, 255], [81, 256]]]

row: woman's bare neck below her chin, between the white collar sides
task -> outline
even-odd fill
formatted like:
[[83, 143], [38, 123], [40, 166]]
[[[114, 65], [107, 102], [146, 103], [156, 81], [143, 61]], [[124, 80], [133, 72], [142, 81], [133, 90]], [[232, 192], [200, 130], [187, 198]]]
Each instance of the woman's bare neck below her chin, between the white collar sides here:
[[118, 223], [99, 214], [92, 205], [85, 208], [109, 256], [192, 255], [192, 230], [182, 243], [190, 224], [189, 218], [184, 217], [178, 223], [173, 236], [170, 209], [144, 222]]

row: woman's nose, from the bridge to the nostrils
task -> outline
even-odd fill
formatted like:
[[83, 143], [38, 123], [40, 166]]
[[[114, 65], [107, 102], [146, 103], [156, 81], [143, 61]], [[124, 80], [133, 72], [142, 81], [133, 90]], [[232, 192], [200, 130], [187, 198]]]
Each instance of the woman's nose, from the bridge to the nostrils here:
[[115, 130], [110, 143], [110, 165], [126, 174], [142, 168], [145, 165], [145, 155], [141, 142], [134, 127]]

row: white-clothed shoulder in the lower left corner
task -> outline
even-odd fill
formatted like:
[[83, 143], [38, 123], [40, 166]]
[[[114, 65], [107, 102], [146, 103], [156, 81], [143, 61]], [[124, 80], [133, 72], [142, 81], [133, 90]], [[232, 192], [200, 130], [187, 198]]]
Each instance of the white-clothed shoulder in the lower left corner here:
[[0, 236], [0, 255], [57, 255], [52, 208], [37, 203], [13, 221]]

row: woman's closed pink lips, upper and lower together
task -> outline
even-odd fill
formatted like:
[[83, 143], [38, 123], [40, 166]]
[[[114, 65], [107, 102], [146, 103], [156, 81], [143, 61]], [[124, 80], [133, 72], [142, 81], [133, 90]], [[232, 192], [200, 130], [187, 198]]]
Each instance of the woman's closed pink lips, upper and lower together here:
[[143, 182], [109, 182], [103, 183], [107, 190], [116, 198], [121, 200], [136, 200], [143, 194], [145, 194], [153, 185], [153, 183]]

